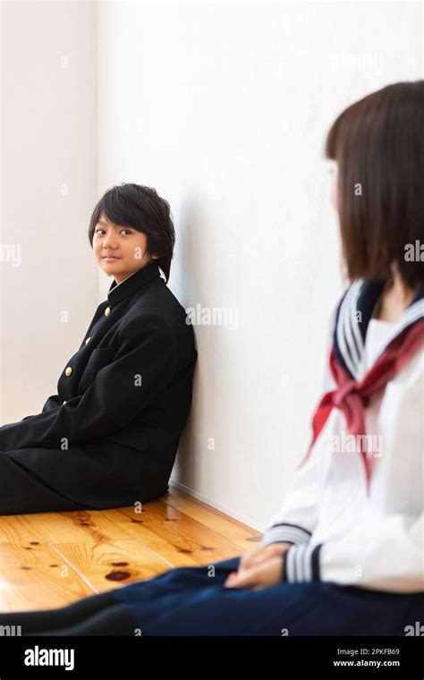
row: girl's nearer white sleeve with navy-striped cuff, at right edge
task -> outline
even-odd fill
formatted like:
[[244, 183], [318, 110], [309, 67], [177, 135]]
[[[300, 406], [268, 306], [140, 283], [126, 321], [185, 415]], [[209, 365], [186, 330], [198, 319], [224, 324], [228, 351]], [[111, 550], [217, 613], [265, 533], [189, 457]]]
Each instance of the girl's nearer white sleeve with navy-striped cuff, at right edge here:
[[379, 501], [341, 539], [289, 548], [284, 580], [424, 591], [423, 386], [421, 352], [396, 384], [386, 387], [379, 417], [387, 464]]

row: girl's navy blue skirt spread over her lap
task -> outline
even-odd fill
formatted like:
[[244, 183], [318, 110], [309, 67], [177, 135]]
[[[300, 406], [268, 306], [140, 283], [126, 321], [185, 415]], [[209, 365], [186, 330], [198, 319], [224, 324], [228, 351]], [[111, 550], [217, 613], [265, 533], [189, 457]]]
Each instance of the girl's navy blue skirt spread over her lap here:
[[240, 557], [180, 567], [112, 591], [141, 635], [405, 635], [424, 622], [424, 591], [371, 591], [332, 582], [225, 588]]

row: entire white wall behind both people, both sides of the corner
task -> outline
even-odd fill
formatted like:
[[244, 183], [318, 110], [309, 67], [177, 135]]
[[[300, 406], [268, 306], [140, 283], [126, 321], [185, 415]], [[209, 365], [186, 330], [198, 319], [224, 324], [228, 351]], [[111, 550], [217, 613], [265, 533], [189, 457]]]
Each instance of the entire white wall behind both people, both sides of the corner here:
[[3, 421], [37, 412], [105, 299], [86, 240], [95, 200], [155, 186], [174, 212], [171, 289], [239, 314], [238, 328], [195, 328], [174, 482], [262, 528], [310, 440], [341, 290], [326, 130], [356, 98], [422, 77], [420, 4], [18, 3], [4, 16], [2, 242], [23, 257], [2, 264]]

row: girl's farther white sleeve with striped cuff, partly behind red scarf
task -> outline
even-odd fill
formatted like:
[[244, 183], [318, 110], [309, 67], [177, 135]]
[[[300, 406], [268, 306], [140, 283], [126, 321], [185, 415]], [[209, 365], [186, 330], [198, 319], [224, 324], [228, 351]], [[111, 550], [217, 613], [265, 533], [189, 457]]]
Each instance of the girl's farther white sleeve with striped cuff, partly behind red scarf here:
[[[322, 392], [333, 389], [328, 356], [333, 338], [335, 313], [329, 323], [326, 338], [326, 365], [323, 371]], [[262, 537], [262, 545], [287, 542], [306, 546], [318, 520], [320, 458], [311, 454], [295, 472], [280, 510], [273, 514]], [[292, 549], [292, 548], [290, 548]]]

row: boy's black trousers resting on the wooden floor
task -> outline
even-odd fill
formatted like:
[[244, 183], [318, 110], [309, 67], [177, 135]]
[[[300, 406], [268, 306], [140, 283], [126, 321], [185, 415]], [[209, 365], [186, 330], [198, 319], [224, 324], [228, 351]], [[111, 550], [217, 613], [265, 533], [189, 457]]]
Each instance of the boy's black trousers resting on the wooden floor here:
[[99, 442], [87, 442], [67, 451], [0, 451], [0, 515], [104, 510], [132, 506], [135, 499], [148, 503], [166, 493], [165, 472], [160, 472], [160, 486], [156, 479], [160, 461], [155, 468], [153, 459], [138, 457], [137, 449], [114, 446], [108, 451]]

